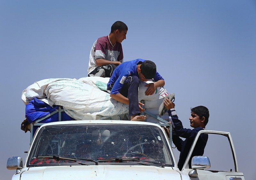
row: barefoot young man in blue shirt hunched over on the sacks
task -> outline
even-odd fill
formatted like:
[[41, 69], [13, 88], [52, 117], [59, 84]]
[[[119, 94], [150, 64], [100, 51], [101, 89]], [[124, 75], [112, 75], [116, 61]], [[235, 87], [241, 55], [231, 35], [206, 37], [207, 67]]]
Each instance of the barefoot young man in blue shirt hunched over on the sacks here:
[[107, 84], [110, 97], [129, 104], [129, 115], [132, 121], [144, 121], [146, 116], [138, 116], [144, 109], [138, 101], [139, 81], [154, 79], [146, 86], [145, 94], [152, 95], [157, 87], [164, 86], [164, 78], [156, 71], [156, 64], [149, 60], [135, 59], [126, 61], [116, 67]]

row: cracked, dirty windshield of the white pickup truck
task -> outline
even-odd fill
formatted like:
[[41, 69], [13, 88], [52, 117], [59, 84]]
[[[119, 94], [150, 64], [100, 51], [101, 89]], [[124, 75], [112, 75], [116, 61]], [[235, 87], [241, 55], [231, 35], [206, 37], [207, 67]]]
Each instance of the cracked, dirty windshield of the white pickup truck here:
[[95, 162], [96, 165], [147, 163], [172, 166], [171, 153], [166, 147], [161, 129], [150, 125], [46, 126], [37, 135], [27, 166], [95, 165]]

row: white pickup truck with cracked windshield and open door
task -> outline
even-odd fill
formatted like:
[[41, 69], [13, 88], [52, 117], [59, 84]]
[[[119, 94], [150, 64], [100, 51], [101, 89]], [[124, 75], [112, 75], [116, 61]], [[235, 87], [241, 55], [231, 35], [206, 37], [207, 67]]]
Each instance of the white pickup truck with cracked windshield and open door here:
[[[204, 156], [193, 157], [192, 168], [188, 168], [196, 140], [202, 133], [209, 134]], [[229, 153], [219, 149], [223, 139]], [[24, 164], [21, 157], [12, 157], [7, 168], [16, 169], [12, 180], [244, 180], [243, 173], [238, 171], [229, 132], [200, 131], [180, 171], [165, 131], [158, 124], [139, 121], [43, 124], [36, 130]]]

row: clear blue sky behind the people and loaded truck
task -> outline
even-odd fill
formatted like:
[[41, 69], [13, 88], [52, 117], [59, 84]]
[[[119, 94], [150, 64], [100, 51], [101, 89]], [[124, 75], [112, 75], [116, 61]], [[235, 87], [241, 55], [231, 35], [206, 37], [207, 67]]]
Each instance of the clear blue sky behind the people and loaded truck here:
[[47, 78], [86, 77], [92, 43], [121, 20], [124, 61], [156, 63], [189, 128], [190, 107], [207, 106], [206, 129], [231, 132], [239, 170], [256, 176], [256, 1], [0, 0], [1, 179], [9, 157], [25, 160], [21, 93]]

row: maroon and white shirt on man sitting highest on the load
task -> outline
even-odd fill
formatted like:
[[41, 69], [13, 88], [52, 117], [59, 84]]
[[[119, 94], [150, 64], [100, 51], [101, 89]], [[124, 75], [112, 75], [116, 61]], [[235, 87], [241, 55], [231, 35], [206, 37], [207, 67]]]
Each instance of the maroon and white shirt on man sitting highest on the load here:
[[98, 38], [92, 45], [87, 70], [88, 74], [90, 74], [97, 67], [95, 59], [120, 61], [122, 63], [124, 59], [122, 44], [116, 42], [112, 45], [108, 35]]

